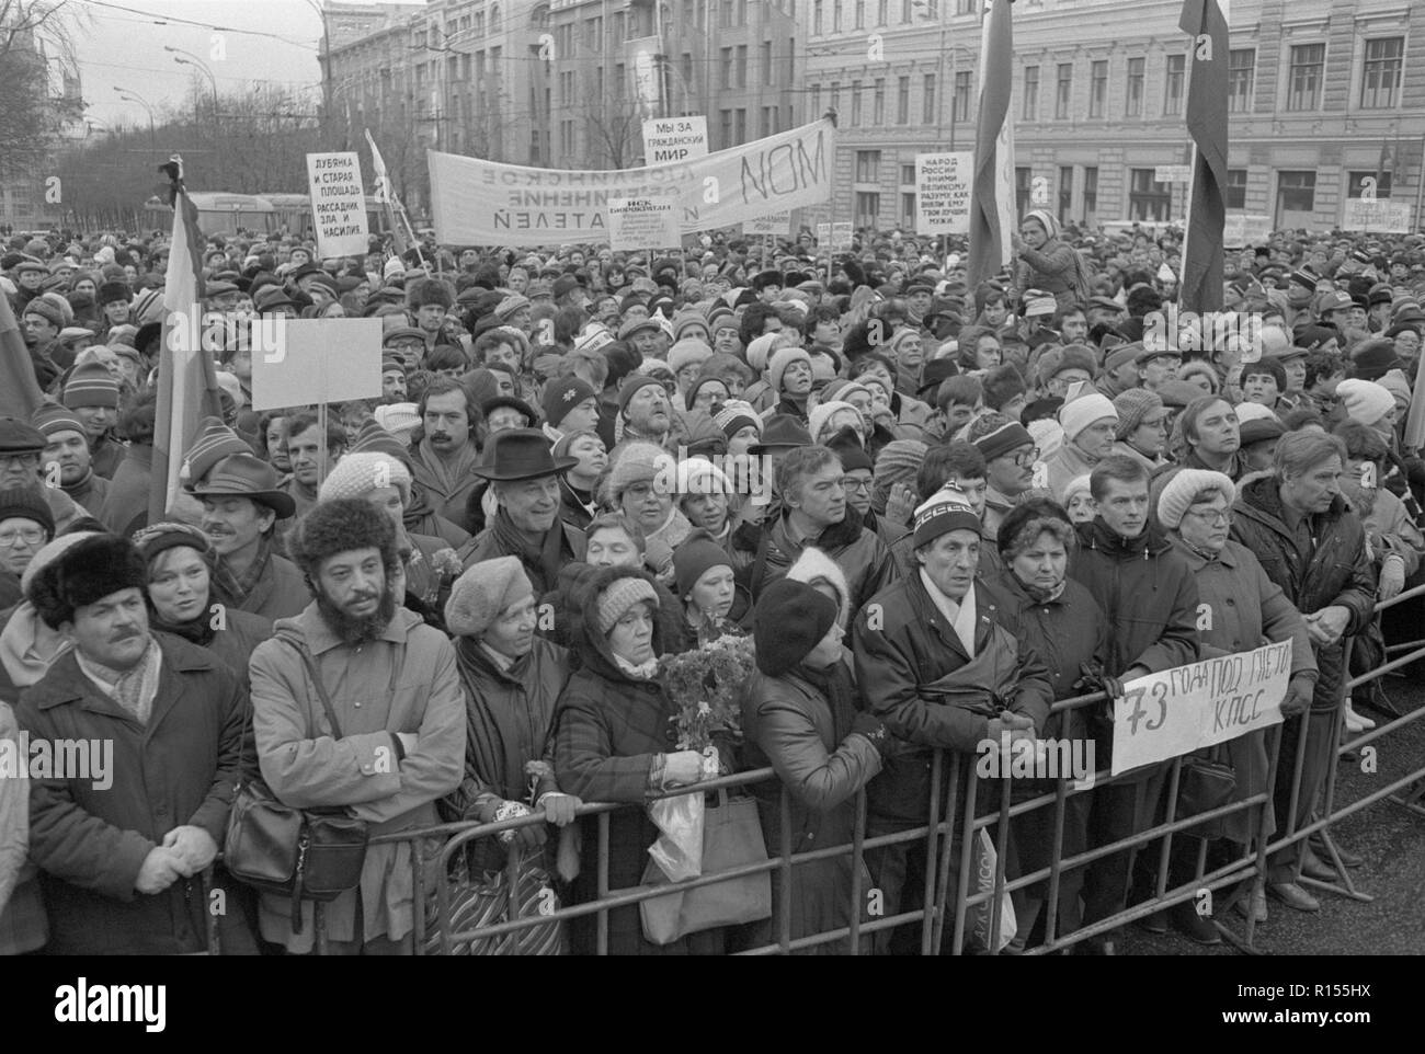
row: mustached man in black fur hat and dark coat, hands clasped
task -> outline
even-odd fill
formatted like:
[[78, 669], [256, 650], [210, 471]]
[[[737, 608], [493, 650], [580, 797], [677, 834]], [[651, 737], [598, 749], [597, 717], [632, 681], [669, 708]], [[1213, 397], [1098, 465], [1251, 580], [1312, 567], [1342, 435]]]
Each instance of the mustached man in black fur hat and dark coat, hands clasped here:
[[111, 746], [105, 772], [90, 765], [31, 782], [30, 859], [43, 872], [48, 950], [204, 951], [202, 873], [228, 826], [242, 685], [207, 648], [150, 631], [148, 575], [131, 543], [70, 534], [40, 563], [26, 597], [73, 648], [21, 694], [16, 716], [34, 741]]

